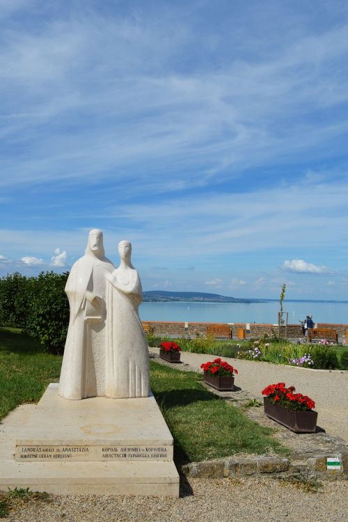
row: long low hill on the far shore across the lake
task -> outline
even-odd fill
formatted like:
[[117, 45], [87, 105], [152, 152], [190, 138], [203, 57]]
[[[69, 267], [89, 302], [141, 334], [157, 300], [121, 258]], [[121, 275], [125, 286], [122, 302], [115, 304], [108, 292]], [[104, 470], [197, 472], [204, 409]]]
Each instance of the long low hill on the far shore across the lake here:
[[192, 301], [196, 303], [260, 303], [256, 299], [237, 299], [220, 294], [205, 292], [166, 292], [166, 290], [150, 290], [143, 292], [143, 301]]

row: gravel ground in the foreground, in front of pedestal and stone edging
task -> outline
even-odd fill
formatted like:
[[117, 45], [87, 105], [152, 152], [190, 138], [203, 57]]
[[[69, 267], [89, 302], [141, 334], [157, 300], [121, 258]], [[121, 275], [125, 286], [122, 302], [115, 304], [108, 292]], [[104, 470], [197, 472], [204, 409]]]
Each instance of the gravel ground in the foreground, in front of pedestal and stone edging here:
[[347, 483], [324, 482], [319, 493], [271, 479], [192, 479], [183, 498], [49, 496], [17, 505], [8, 522], [342, 522]]

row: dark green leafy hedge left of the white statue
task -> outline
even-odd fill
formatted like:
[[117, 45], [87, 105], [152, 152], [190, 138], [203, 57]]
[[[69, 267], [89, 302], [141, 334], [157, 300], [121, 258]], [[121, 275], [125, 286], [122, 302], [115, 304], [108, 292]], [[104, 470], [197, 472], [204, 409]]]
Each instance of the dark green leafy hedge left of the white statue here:
[[0, 278], [0, 324], [21, 328], [52, 354], [63, 354], [69, 324], [64, 288], [69, 272], [41, 272], [38, 277], [18, 272]]

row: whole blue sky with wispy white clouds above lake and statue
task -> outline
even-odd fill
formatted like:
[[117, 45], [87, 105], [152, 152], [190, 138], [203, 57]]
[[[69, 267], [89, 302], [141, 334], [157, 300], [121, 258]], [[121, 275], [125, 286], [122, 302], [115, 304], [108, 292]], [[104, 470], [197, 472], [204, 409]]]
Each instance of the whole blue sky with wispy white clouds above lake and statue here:
[[348, 3], [0, 0], [0, 275], [348, 299]]

